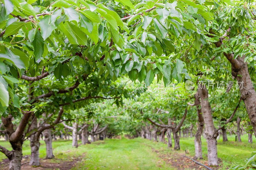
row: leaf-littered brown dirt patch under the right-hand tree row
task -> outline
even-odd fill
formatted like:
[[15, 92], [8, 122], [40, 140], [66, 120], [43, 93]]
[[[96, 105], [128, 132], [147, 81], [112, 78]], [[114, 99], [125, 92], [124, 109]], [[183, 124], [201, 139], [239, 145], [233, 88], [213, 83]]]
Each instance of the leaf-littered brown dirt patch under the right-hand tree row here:
[[[193, 169], [193, 170], [203, 170], [207, 169], [206, 167], [197, 164], [196, 162], [192, 161], [189, 158], [186, 158], [184, 155], [177, 153], [173, 150], [172, 153], [169, 154], [162, 154], [159, 151], [151, 148], [153, 152], [156, 152], [159, 158], [162, 158], [167, 164], [171, 164], [177, 170], [184, 170], [184, 169]], [[197, 162], [207, 166], [206, 160], [196, 160]], [[220, 160], [219, 160], [220, 161]], [[222, 164], [222, 163], [220, 163]], [[221, 166], [214, 166], [210, 167], [213, 170], [219, 169]]]

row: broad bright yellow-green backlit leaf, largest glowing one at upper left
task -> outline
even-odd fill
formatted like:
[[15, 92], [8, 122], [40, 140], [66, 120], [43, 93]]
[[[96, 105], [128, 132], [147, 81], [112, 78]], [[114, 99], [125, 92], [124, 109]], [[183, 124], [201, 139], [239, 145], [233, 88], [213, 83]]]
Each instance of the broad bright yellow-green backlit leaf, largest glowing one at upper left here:
[[67, 36], [68, 41], [71, 44], [85, 45], [87, 44], [87, 38], [84, 32], [76, 25], [65, 21], [60, 23], [58, 28]]

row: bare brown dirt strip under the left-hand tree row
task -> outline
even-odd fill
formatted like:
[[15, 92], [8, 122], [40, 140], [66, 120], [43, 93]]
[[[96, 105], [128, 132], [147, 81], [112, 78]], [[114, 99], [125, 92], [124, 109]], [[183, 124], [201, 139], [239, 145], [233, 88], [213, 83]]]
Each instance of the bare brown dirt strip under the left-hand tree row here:
[[[39, 167], [31, 167], [28, 165], [29, 157], [23, 156], [21, 160], [21, 170], [69, 170], [76, 166], [78, 162], [80, 162], [81, 159], [72, 159], [72, 161], [62, 161], [61, 159], [40, 159], [40, 166]], [[59, 162], [59, 163], [56, 163]], [[0, 169], [1, 170], [8, 170], [9, 166], [9, 159], [3, 159], [2, 162], [0, 162]]]

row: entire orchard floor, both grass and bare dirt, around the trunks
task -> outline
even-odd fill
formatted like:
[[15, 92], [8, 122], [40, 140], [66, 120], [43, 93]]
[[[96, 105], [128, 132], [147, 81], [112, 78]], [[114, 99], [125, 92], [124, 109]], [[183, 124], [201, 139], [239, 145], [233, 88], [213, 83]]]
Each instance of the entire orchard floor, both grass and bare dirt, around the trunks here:
[[[167, 148], [166, 144], [156, 143], [147, 139], [135, 138], [129, 139], [106, 139], [104, 141], [96, 141], [92, 144], [79, 145], [78, 148], [71, 147], [71, 141], [53, 141], [54, 159], [47, 160], [45, 158], [45, 144], [40, 141], [40, 167], [31, 167], [28, 165], [29, 156], [24, 156], [21, 169], [38, 170], [38, 169], [60, 169], [60, 170], [77, 170], [77, 169], [205, 169], [192, 160], [184, 157], [185, 149], [187, 156], [193, 158], [194, 146], [193, 138], [180, 139], [180, 151], [174, 151]], [[0, 141], [9, 150], [8, 142]], [[81, 141], [78, 142], [81, 144]], [[207, 150], [205, 141], [202, 141], [203, 160], [199, 162], [207, 165]], [[235, 143], [229, 141], [226, 143], [218, 142], [218, 157], [220, 165], [211, 167], [212, 169], [228, 169], [250, 156], [251, 151], [256, 148], [255, 144]], [[29, 141], [23, 144], [23, 155], [30, 154]], [[233, 157], [231, 159], [231, 157]], [[1, 158], [6, 158], [0, 153]], [[9, 160], [2, 159], [0, 169], [8, 169]]]

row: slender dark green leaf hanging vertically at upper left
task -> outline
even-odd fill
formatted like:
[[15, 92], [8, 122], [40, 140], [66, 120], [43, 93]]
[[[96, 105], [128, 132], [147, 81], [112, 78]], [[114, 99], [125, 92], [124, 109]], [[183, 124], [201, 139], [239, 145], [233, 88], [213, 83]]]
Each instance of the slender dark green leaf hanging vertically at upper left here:
[[32, 41], [34, 46], [35, 61], [40, 59], [44, 53], [44, 39], [41, 36], [40, 31], [36, 32], [35, 38]]

